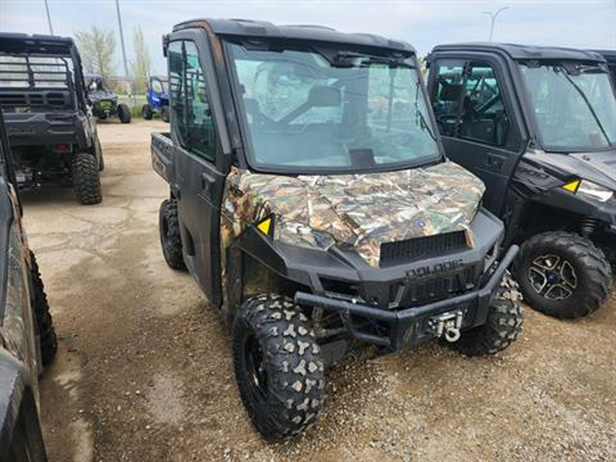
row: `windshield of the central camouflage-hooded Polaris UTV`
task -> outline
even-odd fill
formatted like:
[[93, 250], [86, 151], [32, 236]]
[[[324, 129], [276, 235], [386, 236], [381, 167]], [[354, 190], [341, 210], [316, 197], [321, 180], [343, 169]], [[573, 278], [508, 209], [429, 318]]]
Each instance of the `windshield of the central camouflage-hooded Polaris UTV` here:
[[248, 50], [229, 44], [248, 156], [292, 172], [387, 170], [438, 159], [410, 57], [327, 49]]

